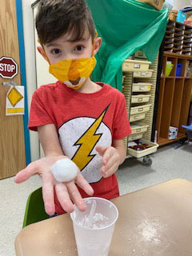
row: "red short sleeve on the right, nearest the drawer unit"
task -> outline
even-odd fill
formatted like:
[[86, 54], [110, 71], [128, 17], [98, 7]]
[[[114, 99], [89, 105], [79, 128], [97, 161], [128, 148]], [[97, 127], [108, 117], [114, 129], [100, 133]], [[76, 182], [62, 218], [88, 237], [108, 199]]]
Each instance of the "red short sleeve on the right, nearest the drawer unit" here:
[[118, 101], [114, 117], [113, 139], [122, 139], [131, 133], [130, 122], [126, 110], [126, 100], [123, 94]]

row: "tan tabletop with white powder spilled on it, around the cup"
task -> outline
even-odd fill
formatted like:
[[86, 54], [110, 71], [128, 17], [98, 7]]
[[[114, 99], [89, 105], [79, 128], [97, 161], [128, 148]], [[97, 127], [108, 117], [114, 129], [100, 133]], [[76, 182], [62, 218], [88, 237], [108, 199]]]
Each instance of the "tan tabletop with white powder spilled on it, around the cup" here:
[[[174, 179], [111, 201], [119, 218], [109, 256], [192, 255], [192, 182]], [[77, 255], [70, 214], [26, 226], [15, 239], [15, 251], [17, 256]]]

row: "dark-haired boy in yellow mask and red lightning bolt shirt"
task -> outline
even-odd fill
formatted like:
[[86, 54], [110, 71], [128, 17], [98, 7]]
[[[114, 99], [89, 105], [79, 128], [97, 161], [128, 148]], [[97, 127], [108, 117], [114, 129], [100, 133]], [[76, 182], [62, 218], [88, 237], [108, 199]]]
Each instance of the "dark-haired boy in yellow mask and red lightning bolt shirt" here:
[[[86, 210], [82, 198], [119, 195], [114, 173], [125, 160], [123, 138], [130, 134], [125, 98], [90, 80], [102, 40], [85, 0], [40, 2], [36, 28], [38, 51], [58, 82], [36, 90], [30, 107], [29, 129], [38, 130], [46, 157], [21, 170], [15, 182], [39, 174], [47, 214], [70, 213], [73, 202]], [[79, 168], [71, 182], [59, 183], [51, 174], [61, 158], [70, 158]]]

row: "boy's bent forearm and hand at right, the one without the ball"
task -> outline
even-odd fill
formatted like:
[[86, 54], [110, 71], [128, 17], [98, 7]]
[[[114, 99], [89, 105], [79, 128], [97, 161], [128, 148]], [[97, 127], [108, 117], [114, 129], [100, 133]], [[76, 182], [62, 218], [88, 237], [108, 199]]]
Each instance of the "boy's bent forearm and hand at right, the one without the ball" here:
[[102, 176], [110, 177], [118, 170], [118, 166], [125, 161], [126, 150], [123, 139], [113, 140], [112, 146], [96, 146], [98, 154], [102, 156]]

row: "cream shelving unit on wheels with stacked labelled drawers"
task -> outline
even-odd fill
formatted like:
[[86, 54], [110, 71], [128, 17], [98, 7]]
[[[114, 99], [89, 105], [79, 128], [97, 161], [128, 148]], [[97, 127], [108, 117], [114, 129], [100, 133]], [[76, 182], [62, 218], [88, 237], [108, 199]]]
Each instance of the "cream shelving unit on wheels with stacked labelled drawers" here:
[[[133, 58], [136, 61], [146, 62], [141, 52], [140, 54], [136, 53]], [[132, 133], [124, 141], [127, 156], [140, 158], [157, 150], [158, 145], [151, 142], [157, 72], [158, 56], [153, 63], [150, 63], [148, 70], [124, 73], [122, 93], [126, 98], [126, 109], [130, 118], [130, 126], [132, 126]], [[141, 142], [148, 142], [151, 147], [141, 152], [129, 149], [128, 143], [138, 139]]]

